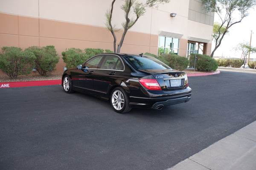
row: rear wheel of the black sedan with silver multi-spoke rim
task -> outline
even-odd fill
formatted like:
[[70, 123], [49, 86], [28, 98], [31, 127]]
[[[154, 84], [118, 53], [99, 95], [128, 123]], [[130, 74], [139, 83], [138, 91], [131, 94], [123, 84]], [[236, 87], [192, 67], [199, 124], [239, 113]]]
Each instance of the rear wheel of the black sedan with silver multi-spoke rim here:
[[111, 106], [117, 113], [126, 113], [131, 111], [129, 98], [125, 90], [121, 87], [114, 88], [110, 97]]

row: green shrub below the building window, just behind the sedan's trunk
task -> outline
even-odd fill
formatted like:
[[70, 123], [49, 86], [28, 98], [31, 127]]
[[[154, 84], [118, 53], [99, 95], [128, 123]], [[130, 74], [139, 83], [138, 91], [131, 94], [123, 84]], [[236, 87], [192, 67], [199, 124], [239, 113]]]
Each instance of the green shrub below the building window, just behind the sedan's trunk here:
[[185, 70], [189, 65], [189, 60], [186, 57], [181, 57], [174, 53], [163, 54], [163, 56], [160, 57], [160, 60], [161, 59], [165, 60], [167, 65], [169, 65], [171, 68], [179, 71]]

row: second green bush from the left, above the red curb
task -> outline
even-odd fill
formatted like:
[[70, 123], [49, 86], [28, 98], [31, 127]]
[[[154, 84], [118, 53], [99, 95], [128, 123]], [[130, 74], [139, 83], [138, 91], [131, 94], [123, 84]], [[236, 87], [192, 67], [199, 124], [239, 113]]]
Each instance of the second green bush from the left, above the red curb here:
[[41, 76], [47, 76], [49, 71], [55, 71], [56, 64], [59, 61], [59, 56], [53, 45], [46, 47], [32, 46], [26, 48], [25, 51], [30, 51], [35, 54], [35, 68]]

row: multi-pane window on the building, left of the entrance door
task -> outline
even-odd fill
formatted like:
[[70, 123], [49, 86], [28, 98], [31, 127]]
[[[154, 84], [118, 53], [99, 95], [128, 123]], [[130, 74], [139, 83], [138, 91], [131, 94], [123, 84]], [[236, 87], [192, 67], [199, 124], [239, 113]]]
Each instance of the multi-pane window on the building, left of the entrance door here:
[[162, 54], [179, 54], [180, 39], [159, 36], [158, 56]]

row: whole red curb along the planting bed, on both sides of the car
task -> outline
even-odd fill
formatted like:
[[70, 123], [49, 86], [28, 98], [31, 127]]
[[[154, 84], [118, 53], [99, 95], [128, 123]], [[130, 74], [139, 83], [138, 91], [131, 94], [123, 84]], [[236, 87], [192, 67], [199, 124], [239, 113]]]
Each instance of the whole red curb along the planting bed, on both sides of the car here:
[[[220, 74], [220, 71], [213, 73], [195, 73], [187, 74], [188, 77], [193, 76], [208, 76], [213, 74]], [[0, 88], [18, 88], [18, 87], [30, 87], [30, 86], [41, 86], [41, 85], [61, 85], [61, 79], [58, 80], [42, 80], [42, 81], [27, 81], [27, 82], [0, 82]]]

